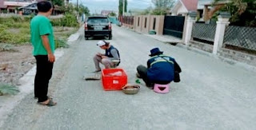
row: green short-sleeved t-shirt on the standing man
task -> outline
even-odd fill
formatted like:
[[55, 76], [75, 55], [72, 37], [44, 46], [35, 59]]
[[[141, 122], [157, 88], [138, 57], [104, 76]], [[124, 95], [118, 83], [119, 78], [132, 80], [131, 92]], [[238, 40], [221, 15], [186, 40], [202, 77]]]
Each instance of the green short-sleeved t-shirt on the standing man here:
[[50, 20], [43, 15], [37, 15], [30, 22], [31, 43], [34, 46], [33, 55], [47, 55], [42, 44], [42, 35], [48, 35], [50, 49], [54, 53], [54, 32]]

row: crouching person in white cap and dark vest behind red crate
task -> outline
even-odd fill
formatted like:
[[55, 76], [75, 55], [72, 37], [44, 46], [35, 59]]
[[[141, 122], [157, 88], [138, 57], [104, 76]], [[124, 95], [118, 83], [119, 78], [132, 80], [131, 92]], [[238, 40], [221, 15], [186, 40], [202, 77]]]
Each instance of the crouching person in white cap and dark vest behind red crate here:
[[98, 41], [97, 45], [101, 49], [105, 49], [106, 53], [97, 53], [94, 56], [94, 65], [96, 68], [94, 73], [100, 72], [102, 70], [99, 67], [99, 63], [102, 63], [106, 69], [110, 69], [111, 67], [115, 67], [120, 64], [120, 55], [118, 49], [114, 48], [113, 45], [110, 45], [110, 42]]

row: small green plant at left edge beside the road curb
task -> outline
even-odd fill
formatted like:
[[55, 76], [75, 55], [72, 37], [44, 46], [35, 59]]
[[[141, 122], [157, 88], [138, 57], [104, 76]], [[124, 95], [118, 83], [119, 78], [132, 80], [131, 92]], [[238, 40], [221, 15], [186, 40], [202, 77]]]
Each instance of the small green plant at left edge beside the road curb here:
[[0, 95], [3, 95], [3, 94], [16, 95], [17, 93], [19, 93], [19, 90], [15, 85], [0, 83]]

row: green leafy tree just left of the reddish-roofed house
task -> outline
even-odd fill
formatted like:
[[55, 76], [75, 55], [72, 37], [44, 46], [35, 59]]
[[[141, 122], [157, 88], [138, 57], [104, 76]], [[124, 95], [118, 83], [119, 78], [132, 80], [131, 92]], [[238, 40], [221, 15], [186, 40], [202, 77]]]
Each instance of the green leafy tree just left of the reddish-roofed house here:
[[152, 14], [162, 15], [166, 14], [167, 11], [174, 6], [175, 0], [151, 0], [151, 2], [153, 2], [155, 6]]

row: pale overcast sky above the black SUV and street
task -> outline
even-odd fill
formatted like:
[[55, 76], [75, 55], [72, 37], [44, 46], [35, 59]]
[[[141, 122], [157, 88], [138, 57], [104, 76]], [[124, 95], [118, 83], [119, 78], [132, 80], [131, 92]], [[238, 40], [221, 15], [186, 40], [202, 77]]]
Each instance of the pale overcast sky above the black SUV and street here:
[[[70, 0], [70, 2], [77, 3], [77, 0]], [[102, 10], [115, 10], [118, 11], [119, 0], [78, 0], [78, 3], [82, 3], [87, 6], [90, 13], [95, 11], [100, 13]], [[153, 6], [151, 0], [128, 0], [128, 10], [130, 9], [146, 9], [149, 6]]]

